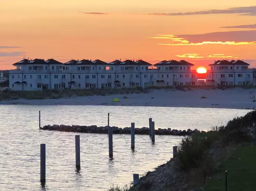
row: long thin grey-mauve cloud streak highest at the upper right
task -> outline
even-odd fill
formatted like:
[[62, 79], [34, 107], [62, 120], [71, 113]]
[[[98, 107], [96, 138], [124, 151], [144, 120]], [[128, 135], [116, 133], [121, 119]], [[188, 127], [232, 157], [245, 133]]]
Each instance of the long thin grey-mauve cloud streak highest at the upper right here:
[[177, 15], [211, 15], [211, 14], [238, 14], [256, 16], [256, 6], [232, 7], [228, 9], [211, 9], [206, 11], [178, 12], [178, 13], [148, 13], [147, 15], [177, 16]]

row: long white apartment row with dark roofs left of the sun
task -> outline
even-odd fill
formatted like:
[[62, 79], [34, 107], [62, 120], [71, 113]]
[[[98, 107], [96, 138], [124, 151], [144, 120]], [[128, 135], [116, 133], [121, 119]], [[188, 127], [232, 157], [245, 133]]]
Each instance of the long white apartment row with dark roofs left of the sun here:
[[197, 85], [197, 76], [186, 61], [162, 61], [155, 66], [148, 62], [101, 60], [71, 60], [66, 63], [54, 59], [23, 59], [10, 70], [10, 89], [91, 89], [114, 87], [149, 87]]

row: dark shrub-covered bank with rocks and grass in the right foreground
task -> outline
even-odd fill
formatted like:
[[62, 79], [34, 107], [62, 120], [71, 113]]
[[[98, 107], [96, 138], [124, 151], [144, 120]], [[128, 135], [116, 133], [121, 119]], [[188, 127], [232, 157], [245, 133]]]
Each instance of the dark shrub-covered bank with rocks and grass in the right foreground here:
[[[109, 191], [253, 191], [256, 183], [256, 111], [229, 121], [226, 126], [185, 136], [177, 157], [140, 177], [139, 184]], [[227, 171], [227, 172], [226, 172]], [[253, 178], [253, 179], [252, 179]]]

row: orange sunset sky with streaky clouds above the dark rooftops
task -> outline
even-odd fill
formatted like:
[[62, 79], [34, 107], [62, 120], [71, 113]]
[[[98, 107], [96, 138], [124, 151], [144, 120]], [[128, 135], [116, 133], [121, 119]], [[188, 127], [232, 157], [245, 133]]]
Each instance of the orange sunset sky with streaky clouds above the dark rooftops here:
[[0, 67], [25, 57], [256, 67], [255, 0], [2, 0]]

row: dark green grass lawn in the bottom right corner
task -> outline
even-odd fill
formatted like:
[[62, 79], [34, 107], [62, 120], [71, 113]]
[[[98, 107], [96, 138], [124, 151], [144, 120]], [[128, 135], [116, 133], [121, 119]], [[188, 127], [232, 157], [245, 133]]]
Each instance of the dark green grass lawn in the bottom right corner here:
[[229, 191], [254, 191], [256, 189], [256, 146], [244, 146], [234, 151], [222, 163], [214, 178], [206, 184], [205, 191], [225, 190], [225, 171]]

